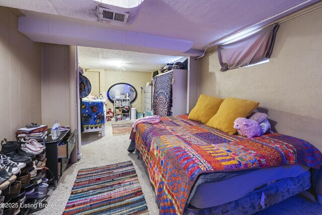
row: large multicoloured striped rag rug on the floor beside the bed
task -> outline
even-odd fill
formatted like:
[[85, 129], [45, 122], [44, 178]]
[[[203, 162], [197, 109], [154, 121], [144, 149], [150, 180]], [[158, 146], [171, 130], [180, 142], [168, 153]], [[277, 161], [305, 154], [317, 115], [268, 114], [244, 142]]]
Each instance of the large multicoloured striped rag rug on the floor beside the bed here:
[[62, 214], [148, 214], [132, 162], [79, 170]]

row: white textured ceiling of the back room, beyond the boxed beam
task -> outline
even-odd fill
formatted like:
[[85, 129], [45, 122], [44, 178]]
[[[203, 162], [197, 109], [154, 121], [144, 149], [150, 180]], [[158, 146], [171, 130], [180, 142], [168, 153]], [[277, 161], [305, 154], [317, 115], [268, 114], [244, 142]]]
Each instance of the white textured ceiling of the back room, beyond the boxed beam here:
[[160, 65], [165, 65], [182, 58], [181, 56], [166, 56], [133, 51], [120, 51], [102, 48], [78, 47], [79, 65], [86, 68], [99, 68], [122, 71], [154, 71]]

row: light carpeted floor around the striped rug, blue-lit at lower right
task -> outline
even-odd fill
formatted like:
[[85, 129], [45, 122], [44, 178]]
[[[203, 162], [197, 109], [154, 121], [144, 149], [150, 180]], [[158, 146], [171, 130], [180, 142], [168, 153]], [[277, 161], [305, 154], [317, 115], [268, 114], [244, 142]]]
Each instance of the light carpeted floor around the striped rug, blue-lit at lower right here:
[[[104, 137], [100, 137], [95, 132], [82, 134], [83, 158], [66, 169], [58, 182], [58, 189], [53, 190], [53, 186], [49, 187], [48, 194], [50, 195], [47, 201], [50, 204], [54, 204], [54, 208], [48, 207], [37, 211], [34, 214], [61, 214], [65, 208], [79, 169], [110, 165], [125, 161], [132, 161], [133, 163], [139, 179], [139, 184], [146, 200], [149, 214], [158, 214], [158, 208], [155, 203], [155, 194], [149, 184], [149, 180], [145, 174], [141, 161], [137, 159], [135, 154], [129, 154], [126, 151], [130, 142], [129, 134], [113, 136], [112, 123], [115, 122], [107, 122], [105, 127], [106, 135]], [[322, 205], [301, 196], [293, 196], [278, 204], [268, 207], [257, 214], [322, 214]]]

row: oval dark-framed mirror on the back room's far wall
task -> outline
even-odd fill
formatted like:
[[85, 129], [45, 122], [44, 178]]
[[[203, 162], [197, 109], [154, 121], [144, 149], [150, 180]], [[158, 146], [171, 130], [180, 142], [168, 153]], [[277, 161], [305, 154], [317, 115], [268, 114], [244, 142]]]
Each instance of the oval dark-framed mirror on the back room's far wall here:
[[133, 103], [137, 97], [135, 88], [127, 83], [117, 83], [112, 85], [107, 91], [107, 98], [112, 103], [114, 103], [114, 99], [125, 99], [127, 95], [130, 98], [131, 103]]

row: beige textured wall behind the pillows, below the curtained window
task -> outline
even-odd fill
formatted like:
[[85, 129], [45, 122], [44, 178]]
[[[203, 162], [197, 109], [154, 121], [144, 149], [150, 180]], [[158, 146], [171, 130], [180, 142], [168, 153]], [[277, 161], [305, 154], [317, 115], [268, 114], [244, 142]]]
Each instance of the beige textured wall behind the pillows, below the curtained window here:
[[322, 151], [322, 8], [281, 24], [269, 63], [219, 71], [217, 51], [200, 60], [199, 93], [260, 102], [279, 133]]

